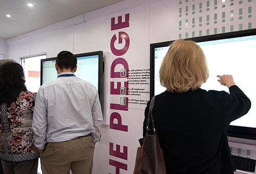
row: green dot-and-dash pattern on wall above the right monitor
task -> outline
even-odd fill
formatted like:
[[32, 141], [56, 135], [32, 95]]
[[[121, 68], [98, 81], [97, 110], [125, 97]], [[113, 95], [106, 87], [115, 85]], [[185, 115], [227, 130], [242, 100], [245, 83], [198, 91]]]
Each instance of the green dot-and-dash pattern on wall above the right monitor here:
[[256, 0], [179, 0], [179, 38], [256, 28]]

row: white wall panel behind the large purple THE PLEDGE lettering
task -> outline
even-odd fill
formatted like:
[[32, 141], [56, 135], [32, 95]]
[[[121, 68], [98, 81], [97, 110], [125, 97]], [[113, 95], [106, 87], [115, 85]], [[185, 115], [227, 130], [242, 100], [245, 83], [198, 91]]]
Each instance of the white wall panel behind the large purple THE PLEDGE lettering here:
[[[126, 59], [129, 64], [129, 70], [149, 68], [149, 41], [148, 41], [148, 5], [143, 5], [133, 9], [119, 12], [114, 15], [109, 15], [103, 18], [88, 21], [83, 24], [75, 26], [74, 35], [74, 50], [76, 53], [103, 50], [110, 52], [110, 60], [105, 60], [105, 71], [110, 71], [111, 64], [117, 58]], [[123, 21], [125, 15], [129, 14], [129, 27], [111, 31], [111, 18], [117, 18], [121, 16]], [[113, 55], [110, 43], [114, 35], [118, 37], [119, 32], [125, 32], [129, 36], [129, 49], [121, 56]], [[115, 42], [115, 47], [121, 49], [126, 42], [123, 39], [122, 44]], [[127, 70], [128, 71], [128, 70]], [[110, 82], [117, 82], [118, 79], [110, 78], [105, 79], [105, 88], [109, 88]], [[123, 82], [122, 85], [124, 86]], [[129, 85], [129, 88], [135, 86]], [[138, 87], [138, 85], [137, 85]], [[143, 88], [149, 90], [148, 86], [144, 85]], [[128, 89], [127, 89], [128, 90]], [[109, 116], [113, 112], [119, 112], [118, 110], [109, 109], [109, 104], [120, 100], [120, 96], [110, 95], [110, 91], [107, 90], [105, 97], [108, 98], [108, 102], [104, 104], [107, 113], [105, 118], [109, 119]], [[149, 95], [145, 93], [142, 96], [126, 96], [129, 99], [149, 99]], [[93, 173], [115, 173], [116, 167], [109, 165], [109, 160], [116, 160], [119, 163], [123, 163], [127, 166], [127, 169], [117, 169], [120, 173], [132, 173], [134, 159], [139, 146], [138, 139], [142, 137], [142, 122], [144, 118], [145, 105], [129, 104], [128, 111], [120, 111], [121, 121], [128, 127], [128, 131], [120, 131], [103, 126], [102, 128], [102, 140], [97, 142], [95, 156], [94, 156], [94, 168]], [[124, 146], [128, 148], [128, 159], [121, 159], [113, 155], [109, 155], [109, 144], [113, 143], [114, 146], [120, 145], [121, 151]], [[101, 167], [97, 167], [101, 164]]]

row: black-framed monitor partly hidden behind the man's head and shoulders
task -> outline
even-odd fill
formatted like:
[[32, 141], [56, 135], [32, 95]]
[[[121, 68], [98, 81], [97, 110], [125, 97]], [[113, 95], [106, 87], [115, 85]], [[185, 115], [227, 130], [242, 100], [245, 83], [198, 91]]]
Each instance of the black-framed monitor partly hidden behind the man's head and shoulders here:
[[[77, 57], [77, 71], [75, 75], [93, 84], [98, 92], [103, 106], [103, 51], [86, 52], [75, 55]], [[57, 78], [55, 69], [56, 57], [41, 59], [41, 85]]]

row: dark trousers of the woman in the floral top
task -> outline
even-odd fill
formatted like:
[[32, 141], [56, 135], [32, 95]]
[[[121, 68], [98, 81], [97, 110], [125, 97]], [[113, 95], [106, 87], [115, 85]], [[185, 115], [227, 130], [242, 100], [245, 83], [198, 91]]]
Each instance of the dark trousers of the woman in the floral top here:
[[36, 174], [38, 173], [38, 159], [26, 160], [25, 162], [6, 162], [2, 160], [6, 174]]

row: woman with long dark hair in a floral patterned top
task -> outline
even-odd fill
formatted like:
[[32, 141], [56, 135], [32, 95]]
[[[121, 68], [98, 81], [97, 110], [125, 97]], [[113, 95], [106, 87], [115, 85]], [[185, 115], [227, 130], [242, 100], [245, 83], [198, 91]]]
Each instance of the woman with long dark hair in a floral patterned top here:
[[5, 173], [37, 173], [39, 152], [31, 127], [35, 95], [27, 90], [19, 63], [9, 61], [1, 66], [0, 159]]

